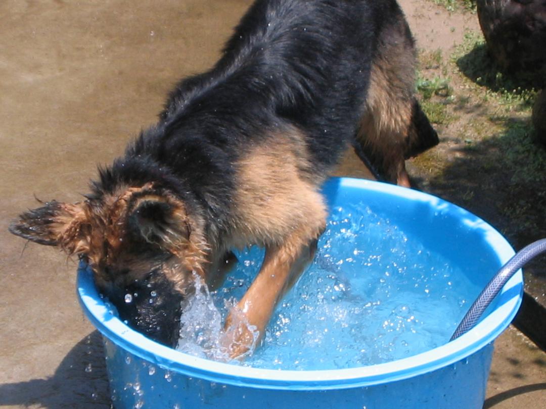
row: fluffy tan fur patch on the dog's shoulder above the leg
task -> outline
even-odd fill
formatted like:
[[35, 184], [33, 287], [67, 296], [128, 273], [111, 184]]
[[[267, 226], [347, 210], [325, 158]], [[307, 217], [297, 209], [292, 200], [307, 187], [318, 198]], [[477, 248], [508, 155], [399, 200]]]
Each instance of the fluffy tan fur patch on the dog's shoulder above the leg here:
[[307, 158], [304, 138], [294, 129], [271, 136], [242, 158], [232, 208], [234, 246], [281, 244], [301, 226], [308, 239], [318, 237], [327, 211], [318, 193], [322, 179], [311, 179]]

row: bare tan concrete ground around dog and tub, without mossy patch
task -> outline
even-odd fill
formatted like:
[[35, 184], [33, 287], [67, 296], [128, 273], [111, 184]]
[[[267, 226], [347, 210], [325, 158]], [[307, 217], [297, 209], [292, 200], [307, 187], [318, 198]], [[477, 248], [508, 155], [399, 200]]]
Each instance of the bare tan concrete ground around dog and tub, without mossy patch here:
[[[173, 83], [215, 62], [248, 4], [0, 2], [1, 407], [109, 407], [99, 336], [76, 301], [76, 261], [26, 245], [8, 224], [34, 196], [80, 200], [97, 164], [155, 121]], [[402, 5], [416, 28], [419, 3]], [[368, 175], [352, 155], [338, 173]], [[509, 328], [485, 407], [546, 407], [545, 368], [546, 354]]]

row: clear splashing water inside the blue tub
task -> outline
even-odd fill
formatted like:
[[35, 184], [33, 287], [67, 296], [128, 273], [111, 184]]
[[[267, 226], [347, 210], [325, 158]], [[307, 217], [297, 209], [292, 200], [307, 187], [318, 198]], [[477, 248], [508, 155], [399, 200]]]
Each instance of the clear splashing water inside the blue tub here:
[[[223, 320], [251, 284], [263, 251], [237, 256], [223, 288], [209, 293], [202, 286], [186, 306], [178, 350], [224, 358]], [[237, 364], [313, 370], [406, 358], [445, 344], [474, 292], [458, 268], [418, 237], [364, 205], [335, 208], [313, 263], [277, 306], [263, 345]]]

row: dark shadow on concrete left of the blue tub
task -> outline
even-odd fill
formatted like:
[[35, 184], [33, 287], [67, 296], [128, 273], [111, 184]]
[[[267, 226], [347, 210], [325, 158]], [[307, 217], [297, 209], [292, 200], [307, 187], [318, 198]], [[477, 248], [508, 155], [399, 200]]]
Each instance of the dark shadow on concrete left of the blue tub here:
[[110, 408], [108, 376], [101, 335], [82, 339], [46, 379], [0, 384], [0, 406], [38, 405], [57, 408]]

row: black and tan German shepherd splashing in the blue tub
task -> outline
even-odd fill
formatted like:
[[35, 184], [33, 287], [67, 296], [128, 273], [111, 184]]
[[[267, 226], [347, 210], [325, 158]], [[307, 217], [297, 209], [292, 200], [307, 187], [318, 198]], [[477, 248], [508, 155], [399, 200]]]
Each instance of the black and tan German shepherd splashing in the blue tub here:
[[352, 144], [408, 185], [405, 158], [438, 142], [415, 70], [395, 0], [257, 0], [216, 65], [175, 87], [85, 200], [42, 203], [10, 231], [84, 258], [120, 318], [169, 346], [196, 277], [217, 286], [232, 249], [263, 246], [225, 323], [225, 348], [241, 357], [313, 258], [319, 190], [340, 154]]

